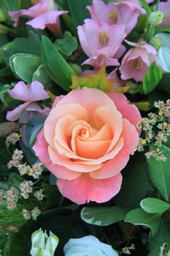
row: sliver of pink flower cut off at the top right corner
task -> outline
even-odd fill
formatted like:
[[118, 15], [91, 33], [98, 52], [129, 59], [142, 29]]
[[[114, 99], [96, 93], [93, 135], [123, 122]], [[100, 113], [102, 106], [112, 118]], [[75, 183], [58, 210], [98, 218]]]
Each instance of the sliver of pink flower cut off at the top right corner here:
[[166, 26], [170, 25], [170, 1], [160, 2], [159, 11], [163, 12], [163, 21], [159, 26], [166, 28]]

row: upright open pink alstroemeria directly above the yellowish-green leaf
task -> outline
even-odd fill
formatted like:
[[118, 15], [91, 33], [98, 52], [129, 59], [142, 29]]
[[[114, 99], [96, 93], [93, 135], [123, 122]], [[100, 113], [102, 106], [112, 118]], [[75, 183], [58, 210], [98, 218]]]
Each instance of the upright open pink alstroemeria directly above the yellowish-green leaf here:
[[90, 64], [95, 69], [119, 66], [117, 58], [125, 52], [121, 45], [126, 37], [124, 25], [99, 25], [94, 20], [85, 19], [85, 24], [78, 26], [77, 29], [82, 49], [90, 57], [82, 64]]

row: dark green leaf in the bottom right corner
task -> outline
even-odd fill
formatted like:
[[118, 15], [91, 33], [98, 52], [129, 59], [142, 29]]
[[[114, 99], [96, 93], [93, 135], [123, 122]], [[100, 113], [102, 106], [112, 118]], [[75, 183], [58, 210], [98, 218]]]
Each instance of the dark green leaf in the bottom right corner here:
[[160, 247], [163, 246], [164, 243], [170, 245], [169, 223], [161, 222], [158, 232], [155, 236], [150, 238], [150, 253], [148, 256], [159, 255]]

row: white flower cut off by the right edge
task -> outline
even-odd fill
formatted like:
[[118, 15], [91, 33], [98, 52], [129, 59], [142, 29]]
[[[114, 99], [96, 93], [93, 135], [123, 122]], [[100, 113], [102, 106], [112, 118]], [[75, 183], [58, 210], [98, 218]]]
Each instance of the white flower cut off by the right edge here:
[[158, 65], [163, 72], [170, 72], [170, 34], [159, 33], [155, 37], [161, 38], [162, 46], [158, 50]]

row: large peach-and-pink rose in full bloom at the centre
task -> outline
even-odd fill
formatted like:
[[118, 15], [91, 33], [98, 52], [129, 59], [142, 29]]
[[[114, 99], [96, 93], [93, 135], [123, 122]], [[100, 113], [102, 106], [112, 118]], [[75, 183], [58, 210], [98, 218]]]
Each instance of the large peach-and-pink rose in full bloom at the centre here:
[[55, 99], [34, 151], [64, 197], [77, 204], [106, 202], [120, 190], [140, 118], [123, 94], [75, 89]]

